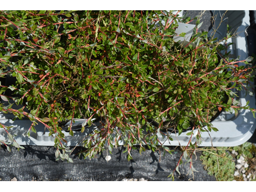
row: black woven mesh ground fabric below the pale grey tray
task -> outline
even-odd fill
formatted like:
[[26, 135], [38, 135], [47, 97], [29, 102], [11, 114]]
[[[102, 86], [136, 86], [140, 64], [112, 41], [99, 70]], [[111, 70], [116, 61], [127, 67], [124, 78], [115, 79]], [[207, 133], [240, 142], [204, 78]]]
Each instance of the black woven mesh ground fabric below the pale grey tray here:
[[[159, 162], [159, 152], [146, 150], [140, 155], [138, 150], [132, 152], [132, 161], [127, 161], [124, 147], [113, 150], [110, 161], [105, 160], [106, 152], [102, 152], [94, 159], [83, 159], [76, 156], [76, 148], [71, 157], [74, 163], [55, 161], [54, 147], [24, 146], [18, 151], [12, 147], [8, 152], [2, 147], [0, 150], [0, 179], [11, 180], [122, 180], [124, 178], [147, 180], [170, 180], [168, 175], [175, 168], [180, 157], [180, 150], [175, 149], [172, 155], [166, 153]], [[72, 147], [73, 148], [73, 147]], [[173, 148], [174, 149], [174, 148]], [[175, 180], [216, 180], [207, 175], [197, 154], [193, 166], [194, 179], [187, 175], [189, 164], [182, 164], [179, 173], [175, 172]]]

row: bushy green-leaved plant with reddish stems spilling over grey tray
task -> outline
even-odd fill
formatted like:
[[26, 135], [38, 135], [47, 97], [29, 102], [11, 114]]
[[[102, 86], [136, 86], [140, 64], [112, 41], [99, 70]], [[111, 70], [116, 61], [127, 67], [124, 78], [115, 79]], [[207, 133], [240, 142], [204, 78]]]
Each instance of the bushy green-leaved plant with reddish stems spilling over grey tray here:
[[[197, 147], [202, 131], [218, 131], [211, 124], [218, 111], [249, 109], [239, 106], [232, 89], [247, 89], [252, 68], [238, 63], [252, 58], [218, 56], [223, 45], [207, 32], [198, 33], [200, 20], [188, 44], [175, 42], [178, 22], [190, 22], [178, 13], [1, 11], [0, 74], [17, 81], [2, 84], [0, 94], [3, 100], [24, 104], [20, 109], [0, 104], [1, 111], [27, 116], [29, 131], [36, 132], [38, 122], [44, 124], [55, 138], [57, 159], [72, 161], [65, 154], [60, 122], [74, 118], [87, 119], [82, 132], [93, 118], [102, 123], [83, 141], [84, 157], [106, 146], [111, 152], [120, 141], [128, 160], [134, 145], [140, 151], [147, 146], [170, 152], [158, 138], [172, 140], [171, 132], [188, 129], [191, 137], [198, 129], [196, 142], [188, 143]], [[6, 90], [19, 97], [4, 95]], [[68, 131], [74, 134], [72, 123]]]

